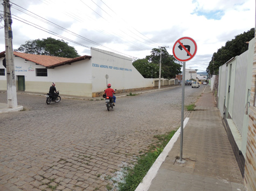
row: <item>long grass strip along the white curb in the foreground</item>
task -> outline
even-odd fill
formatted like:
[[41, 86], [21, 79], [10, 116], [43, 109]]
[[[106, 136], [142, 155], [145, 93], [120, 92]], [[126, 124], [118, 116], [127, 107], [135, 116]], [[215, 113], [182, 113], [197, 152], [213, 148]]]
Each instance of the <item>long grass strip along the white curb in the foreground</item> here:
[[139, 157], [137, 164], [133, 168], [127, 168], [124, 182], [119, 183], [119, 191], [134, 191], [139, 183], [142, 181], [144, 176], [147, 174], [149, 168], [154, 164], [157, 157], [163, 151], [163, 148], [170, 141], [171, 137], [174, 136], [176, 130], [171, 131], [168, 135], [156, 135], [161, 142], [158, 147], [154, 147], [148, 151], [148, 153]]

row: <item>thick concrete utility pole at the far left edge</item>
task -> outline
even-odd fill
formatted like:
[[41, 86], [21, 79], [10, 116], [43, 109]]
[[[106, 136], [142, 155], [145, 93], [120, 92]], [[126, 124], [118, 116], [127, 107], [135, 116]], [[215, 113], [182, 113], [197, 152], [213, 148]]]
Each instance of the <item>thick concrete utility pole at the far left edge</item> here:
[[5, 36], [5, 60], [6, 60], [6, 81], [8, 107], [16, 108], [17, 92], [15, 80], [15, 67], [12, 50], [12, 30], [11, 30], [11, 5], [9, 0], [4, 0], [4, 36]]

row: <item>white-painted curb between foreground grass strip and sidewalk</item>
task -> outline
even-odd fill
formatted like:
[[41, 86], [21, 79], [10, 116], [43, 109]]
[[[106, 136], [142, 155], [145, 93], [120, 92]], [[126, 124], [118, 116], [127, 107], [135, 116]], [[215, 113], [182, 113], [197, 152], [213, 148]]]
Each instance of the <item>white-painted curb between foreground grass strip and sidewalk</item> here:
[[[189, 117], [186, 117], [184, 120], [183, 129], [186, 127], [186, 124], [189, 121]], [[177, 141], [179, 134], [181, 134], [181, 127], [176, 131], [174, 136], [170, 139], [168, 144], [165, 146], [163, 152], [157, 157], [155, 163], [151, 166], [146, 176], [143, 178], [142, 182], [137, 186], [135, 191], [147, 191], [151, 185], [152, 180], [156, 177], [156, 174], [161, 167], [162, 163], [164, 162], [165, 158], [167, 157], [168, 153], [174, 146], [174, 143]]]

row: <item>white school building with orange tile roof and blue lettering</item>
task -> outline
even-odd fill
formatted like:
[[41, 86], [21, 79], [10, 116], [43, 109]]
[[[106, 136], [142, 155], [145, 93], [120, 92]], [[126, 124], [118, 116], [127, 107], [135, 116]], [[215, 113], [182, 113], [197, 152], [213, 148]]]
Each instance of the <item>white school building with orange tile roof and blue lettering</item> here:
[[[91, 48], [91, 56], [61, 58], [14, 52], [17, 90], [47, 93], [52, 82], [61, 94], [84, 97], [100, 96], [107, 83], [118, 92], [151, 89], [158, 79], [144, 78], [126, 56]], [[5, 52], [0, 53], [0, 90], [7, 89]], [[3, 64], [2, 64], [3, 63]], [[161, 78], [161, 85], [174, 80]]]

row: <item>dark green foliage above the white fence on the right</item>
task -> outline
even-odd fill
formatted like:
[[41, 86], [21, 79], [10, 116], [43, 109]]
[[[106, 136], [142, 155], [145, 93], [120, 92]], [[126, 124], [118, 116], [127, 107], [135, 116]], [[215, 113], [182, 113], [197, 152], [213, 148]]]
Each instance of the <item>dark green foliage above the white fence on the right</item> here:
[[[212, 60], [210, 61], [206, 71], [208, 74], [218, 74], [219, 67], [229, 61], [232, 57], [239, 56], [248, 50], [248, 44], [246, 42], [254, 38], [254, 28], [250, 31], [244, 32], [235, 36], [235, 39], [227, 41], [226, 45], [218, 49], [217, 53], [213, 53]], [[214, 64], [213, 64], [214, 61]]]

